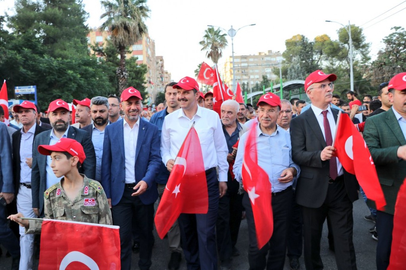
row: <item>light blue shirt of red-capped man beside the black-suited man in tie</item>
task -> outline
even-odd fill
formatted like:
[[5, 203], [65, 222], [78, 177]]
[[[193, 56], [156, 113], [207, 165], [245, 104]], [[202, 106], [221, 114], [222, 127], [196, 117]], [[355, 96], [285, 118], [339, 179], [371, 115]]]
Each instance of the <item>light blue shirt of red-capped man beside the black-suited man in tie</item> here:
[[[292, 161], [292, 146], [290, 142], [290, 134], [280, 126], [276, 126], [276, 131], [272, 135], [262, 133], [259, 124], [253, 128], [257, 129], [257, 156], [258, 165], [266, 171], [269, 176], [269, 181], [272, 185], [272, 192], [283, 191], [289, 186], [292, 186], [293, 181], [289, 183], [281, 183], [278, 178], [281, 178], [281, 173], [284, 169], [294, 167], [300, 174], [300, 168]], [[249, 131], [244, 133], [238, 143], [237, 156], [233, 167], [235, 179], [242, 182], [242, 161], [244, 158], [245, 141]]]

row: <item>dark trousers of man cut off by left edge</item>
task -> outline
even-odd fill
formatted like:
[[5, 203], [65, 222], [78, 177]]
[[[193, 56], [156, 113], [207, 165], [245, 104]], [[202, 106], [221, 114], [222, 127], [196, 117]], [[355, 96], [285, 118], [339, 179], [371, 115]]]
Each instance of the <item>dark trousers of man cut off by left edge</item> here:
[[2, 204], [0, 205], [0, 244], [10, 252], [13, 258], [20, 256], [19, 240], [9, 227], [6, 206], [3, 206]]

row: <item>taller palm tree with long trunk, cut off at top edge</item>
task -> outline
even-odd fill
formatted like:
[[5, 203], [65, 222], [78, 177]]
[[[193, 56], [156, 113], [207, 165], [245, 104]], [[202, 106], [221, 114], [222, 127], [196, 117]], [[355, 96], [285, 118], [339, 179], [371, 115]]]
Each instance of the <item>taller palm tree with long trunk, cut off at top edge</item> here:
[[102, 0], [106, 10], [100, 18], [106, 19], [101, 28], [110, 32], [111, 42], [120, 53], [120, 64], [117, 68], [119, 92], [127, 88], [128, 73], [125, 68], [127, 47], [139, 41], [147, 33], [144, 21], [149, 17], [147, 0]]

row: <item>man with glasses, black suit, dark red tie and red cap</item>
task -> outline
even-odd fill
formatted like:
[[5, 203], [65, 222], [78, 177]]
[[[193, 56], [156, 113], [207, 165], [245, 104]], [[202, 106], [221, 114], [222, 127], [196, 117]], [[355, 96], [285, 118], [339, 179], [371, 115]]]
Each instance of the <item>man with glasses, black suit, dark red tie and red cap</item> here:
[[320, 70], [305, 80], [311, 107], [292, 119], [292, 159], [300, 166], [296, 201], [302, 206], [304, 263], [307, 270], [322, 269], [320, 240], [328, 217], [334, 236], [339, 270], [356, 269], [352, 242], [352, 202], [358, 199], [358, 182], [335, 157], [333, 134], [338, 110], [330, 107], [337, 76]]

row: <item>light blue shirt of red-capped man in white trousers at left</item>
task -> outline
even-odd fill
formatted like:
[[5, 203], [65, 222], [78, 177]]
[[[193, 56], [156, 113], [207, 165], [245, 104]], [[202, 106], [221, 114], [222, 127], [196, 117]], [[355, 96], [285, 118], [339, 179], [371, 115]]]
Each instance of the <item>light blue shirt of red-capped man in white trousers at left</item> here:
[[26, 163], [27, 158], [32, 158], [32, 143], [34, 142], [34, 133], [37, 124], [34, 123], [32, 127], [24, 132], [24, 129], [21, 129], [21, 142], [20, 142], [20, 183], [31, 183], [31, 168], [28, 167]]

